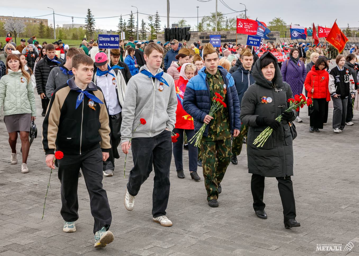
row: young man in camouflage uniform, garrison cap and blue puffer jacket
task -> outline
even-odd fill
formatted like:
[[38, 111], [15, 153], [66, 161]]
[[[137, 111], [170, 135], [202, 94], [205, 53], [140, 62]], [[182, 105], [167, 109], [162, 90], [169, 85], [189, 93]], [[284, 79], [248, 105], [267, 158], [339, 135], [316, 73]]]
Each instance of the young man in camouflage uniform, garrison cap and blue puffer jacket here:
[[[240, 107], [233, 77], [219, 66], [219, 55], [212, 44], [205, 44], [203, 59], [205, 68], [187, 83], [183, 108], [194, 118], [195, 132], [208, 124], [201, 139], [202, 168], [208, 204], [218, 207], [220, 183], [232, 157], [230, 138], [237, 137], [241, 130]], [[226, 106], [211, 117], [215, 93], [223, 97]]]

